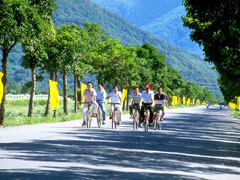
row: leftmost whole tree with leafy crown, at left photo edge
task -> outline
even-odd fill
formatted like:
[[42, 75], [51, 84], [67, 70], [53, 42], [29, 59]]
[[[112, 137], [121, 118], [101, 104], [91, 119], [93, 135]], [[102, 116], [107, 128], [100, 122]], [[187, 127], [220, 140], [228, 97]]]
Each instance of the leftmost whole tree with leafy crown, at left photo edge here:
[[33, 37], [41, 29], [41, 17], [36, 8], [26, 0], [3, 0], [0, 2], [0, 48], [3, 53], [2, 70], [4, 76], [3, 99], [0, 110], [0, 124], [4, 125], [7, 94], [7, 60], [13, 47], [25, 37]]

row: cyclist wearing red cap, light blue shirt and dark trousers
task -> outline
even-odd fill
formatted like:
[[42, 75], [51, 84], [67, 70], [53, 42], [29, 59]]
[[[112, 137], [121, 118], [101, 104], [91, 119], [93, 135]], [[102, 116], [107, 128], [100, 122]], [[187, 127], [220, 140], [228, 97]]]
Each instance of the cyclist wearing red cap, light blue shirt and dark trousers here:
[[150, 118], [149, 118], [149, 124], [153, 122], [153, 91], [150, 90], [151, 87], [149, 84], [145, 85], [145, 91], [142, 92], [140, 106], [141, 106], [141, 123], [144, 121], [144, 109], [147, 107], [147, 109], [150, 111]]

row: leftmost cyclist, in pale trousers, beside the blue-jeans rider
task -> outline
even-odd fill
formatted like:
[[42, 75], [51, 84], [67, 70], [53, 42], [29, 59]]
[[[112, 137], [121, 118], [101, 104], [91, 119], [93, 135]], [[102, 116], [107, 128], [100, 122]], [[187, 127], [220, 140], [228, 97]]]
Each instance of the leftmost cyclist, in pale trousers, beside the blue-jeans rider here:
[[92, 88], [92, 83], [87, 83], [87, 89], [84, 90], [82, 103], [84, 103], [83, 106], [83, 124], [82, 126], [86, 125], [86, 118], [87, 118], [87, 111], [88, 111], [88, 103], [91, 103], [93, 106], [93, 117], [97, 114], [98, 104], [96, 102], [97, 93], [95, 89]]

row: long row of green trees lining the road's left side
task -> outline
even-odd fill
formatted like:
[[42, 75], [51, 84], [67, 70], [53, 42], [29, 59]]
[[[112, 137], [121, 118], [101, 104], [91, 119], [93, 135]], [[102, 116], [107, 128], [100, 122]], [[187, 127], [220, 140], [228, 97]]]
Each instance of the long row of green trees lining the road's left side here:
[[[25, 55], [22, 65], [31, 69], [31, 93], [28, 116], [33, 115], [33, 99], [37, 79], [49, 73], [50, 80], [63, 78], [63, 106], [68, 114], [69, 73], [74, 75], [75, 112], [77, 112], [77, 83], [86, 73], [96, 74], [98, 81], [108, 87], [118, 84], [121, 88], [143, 87], [150, 83], [153, 89], [163, 87], [169, 96], [198, 97], [201, 100], [214, 98], [204, 88], [185, 82], [177, 70], [167, 67], [165, 56], [149, 43], [124, 47], [111, 39], [96, 23], [75, 24], [55, 28], [51, 14], [56, 8], [55, 0], [3, 0], [0, 4], [0, 47], [3, 52], [4, 94], [0, 111], [0, 123], [4, 125], [7, 83], [7, 58], [9, 52], [21, 43]], [[6, 23], [5, 23], [6, 22]], [[36, 75], [36, 69], [40, 75]], [[80, 83], [79, 83], [80, 84]], [[129, 91], [128, 91], [129, 92]], [[45, 115], [49, 114], [49, 99]]]

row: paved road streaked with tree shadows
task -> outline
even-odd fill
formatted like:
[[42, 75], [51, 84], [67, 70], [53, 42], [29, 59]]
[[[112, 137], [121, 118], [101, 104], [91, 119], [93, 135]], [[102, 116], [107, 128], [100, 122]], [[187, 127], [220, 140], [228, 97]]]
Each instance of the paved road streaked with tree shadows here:
[[168, 110], [163, 130], [82, 121], [0, 129], [0, 180], [240, 180], [240, 120], [219, 107]]

